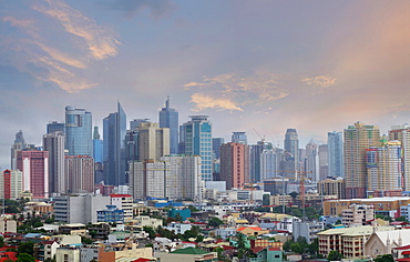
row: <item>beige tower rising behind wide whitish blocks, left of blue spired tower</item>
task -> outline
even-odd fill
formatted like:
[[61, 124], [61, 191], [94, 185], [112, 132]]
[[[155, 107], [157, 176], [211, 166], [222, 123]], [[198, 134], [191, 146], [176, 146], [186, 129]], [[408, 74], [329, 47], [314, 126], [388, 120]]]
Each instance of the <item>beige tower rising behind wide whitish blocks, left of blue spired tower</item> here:
[[170, 154], [170, 129], [157, 123], [141, 123], [139, 128], [139, 157], [141, 161], [160, 160]]

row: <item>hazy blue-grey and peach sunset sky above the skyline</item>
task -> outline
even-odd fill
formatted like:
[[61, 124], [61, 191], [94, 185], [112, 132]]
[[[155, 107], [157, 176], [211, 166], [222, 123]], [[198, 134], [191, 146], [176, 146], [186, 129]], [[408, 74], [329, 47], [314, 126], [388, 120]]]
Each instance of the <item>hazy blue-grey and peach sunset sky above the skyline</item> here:
[[0, 168], [68, 104], [102, 129], [117, 101], [157, 122], [167, 95], [226, 141], [387, 133], [410, 122], [409, 24], [408, 0], [0, 0]]

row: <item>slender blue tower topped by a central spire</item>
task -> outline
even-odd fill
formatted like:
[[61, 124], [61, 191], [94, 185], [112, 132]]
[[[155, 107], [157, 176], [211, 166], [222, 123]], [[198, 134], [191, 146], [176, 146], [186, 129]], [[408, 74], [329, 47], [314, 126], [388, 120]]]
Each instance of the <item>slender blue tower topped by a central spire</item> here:
[[160, 128], [170, 129], [170, 152], [178, 153], [178, 112], [170, 108], [170, 97], [165, 101], [165, 108], [160, 111]]

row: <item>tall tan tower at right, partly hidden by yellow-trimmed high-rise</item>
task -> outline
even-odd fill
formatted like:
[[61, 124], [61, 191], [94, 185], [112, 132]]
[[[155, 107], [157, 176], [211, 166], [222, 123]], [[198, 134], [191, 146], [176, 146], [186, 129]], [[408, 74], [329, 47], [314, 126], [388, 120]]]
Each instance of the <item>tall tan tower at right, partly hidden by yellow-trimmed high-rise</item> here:
[[344, 131], [346, 198], [366, 198], [366, 149], [380, 140], [378, 127], [356, 122]]

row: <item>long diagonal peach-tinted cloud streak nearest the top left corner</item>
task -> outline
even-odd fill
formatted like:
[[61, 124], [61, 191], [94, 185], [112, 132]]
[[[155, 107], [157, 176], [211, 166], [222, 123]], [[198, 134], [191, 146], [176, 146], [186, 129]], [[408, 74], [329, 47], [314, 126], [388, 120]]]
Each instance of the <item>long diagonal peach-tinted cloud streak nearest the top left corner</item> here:
[[98, 26], [94, 20], [85, 17], [65, 2], [53, 0], [48, 1], [48, 6], [33, 4], [32, 8], [57, 19], [66, 32], [82, 38], [94, 59], [102, 60], [116, 56], [121, 42]]

